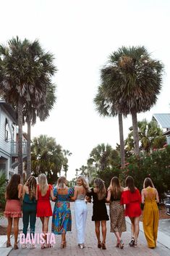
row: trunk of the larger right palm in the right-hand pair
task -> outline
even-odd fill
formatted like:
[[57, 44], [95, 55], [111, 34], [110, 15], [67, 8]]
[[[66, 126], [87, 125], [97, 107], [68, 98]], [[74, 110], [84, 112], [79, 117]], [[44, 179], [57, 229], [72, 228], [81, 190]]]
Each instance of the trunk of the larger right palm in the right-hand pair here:
[[134, 152], [136, 155], [140, 154], [139, 148], [139, 134], [137, 128], [137, 112], [135, 110], [131, 110], [132, 115], [132, 126], [133, 126], [133, 139], [134, 139]]

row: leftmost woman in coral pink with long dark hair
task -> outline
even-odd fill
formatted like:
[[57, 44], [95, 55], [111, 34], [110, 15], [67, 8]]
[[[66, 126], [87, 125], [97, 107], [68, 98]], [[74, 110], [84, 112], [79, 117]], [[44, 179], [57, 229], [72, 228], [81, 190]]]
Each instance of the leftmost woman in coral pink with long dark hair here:
[[5, 192], [5, 198], [7, 199], [4, 216], [8, 219], [7, 226], [7, 247], [11, 247], [11, 231], [12, 220], [14, 219], [14, 249], [18, 249], [17, 236], [18, 236], [18, 223], [20, 217], [22, 217], [20, 198], [22, 197], [22, 184], [20, 183], [20, 174], [14, 174], [7, 185]]

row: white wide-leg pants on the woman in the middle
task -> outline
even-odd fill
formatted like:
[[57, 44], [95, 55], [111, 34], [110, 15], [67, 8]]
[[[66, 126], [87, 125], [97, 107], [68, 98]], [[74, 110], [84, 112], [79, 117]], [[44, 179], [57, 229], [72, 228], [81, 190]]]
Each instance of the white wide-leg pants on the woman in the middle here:
[[88, 207], [84, 200], [75, 201], [75, 226], [77, 230], [77, 243], [85, 243], [85, 223], [88, 215]]

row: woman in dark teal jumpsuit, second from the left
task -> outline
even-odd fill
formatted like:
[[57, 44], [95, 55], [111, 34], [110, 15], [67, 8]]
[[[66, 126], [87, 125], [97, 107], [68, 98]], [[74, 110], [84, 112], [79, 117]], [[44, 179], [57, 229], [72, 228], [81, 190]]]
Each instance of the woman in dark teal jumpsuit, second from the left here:
[[[27, 228], [30, 222], [30, 234], [35, 233], [35, 221], [36, 221], [36, 207], [37, 202], [35, 200], [37, 190], [37, 180], [34, 176], [30, 176], [23, 186], [23, 234], [27, 236]], [[25, 245], [23, 246], [25, 247]], [[35, 244], [32, 244], [35, 247]]]

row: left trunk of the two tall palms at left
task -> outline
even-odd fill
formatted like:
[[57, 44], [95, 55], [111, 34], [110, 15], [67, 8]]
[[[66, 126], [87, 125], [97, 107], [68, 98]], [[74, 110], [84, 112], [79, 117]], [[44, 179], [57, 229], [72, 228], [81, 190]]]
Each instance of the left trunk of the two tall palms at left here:
[[22, 162], [22, 98], [20, 97], [18, 101], [18, 173], [22, 179], [23, 173], [23, 162]]

